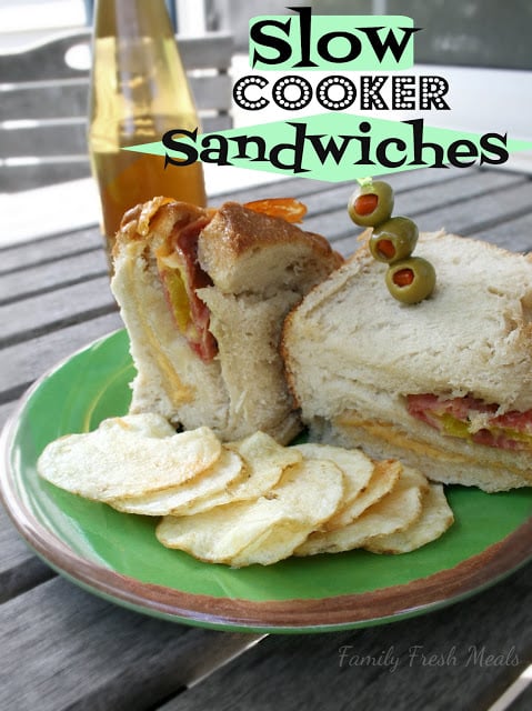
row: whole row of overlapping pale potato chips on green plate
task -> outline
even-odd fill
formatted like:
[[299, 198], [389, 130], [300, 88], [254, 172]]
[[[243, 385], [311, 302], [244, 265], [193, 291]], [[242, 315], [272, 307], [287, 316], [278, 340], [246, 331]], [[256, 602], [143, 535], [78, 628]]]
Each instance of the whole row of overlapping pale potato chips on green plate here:
[[104, 420], [51, 442], [39, 474], [127, 513], [162, 517], [159, 541], [233, 567], [364, 548], [404, 553], [453, 522], [441, 484], [398, 461], [263, 432], [221, 443], [157, 414]]

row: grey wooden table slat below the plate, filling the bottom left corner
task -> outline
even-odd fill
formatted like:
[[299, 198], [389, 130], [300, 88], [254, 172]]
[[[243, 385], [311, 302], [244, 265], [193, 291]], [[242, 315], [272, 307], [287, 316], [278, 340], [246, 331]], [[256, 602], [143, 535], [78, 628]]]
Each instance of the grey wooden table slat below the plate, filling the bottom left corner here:
[[153, 708], [253, 642], [120, 609], [54, 578], [4, 603], [0, 708]]

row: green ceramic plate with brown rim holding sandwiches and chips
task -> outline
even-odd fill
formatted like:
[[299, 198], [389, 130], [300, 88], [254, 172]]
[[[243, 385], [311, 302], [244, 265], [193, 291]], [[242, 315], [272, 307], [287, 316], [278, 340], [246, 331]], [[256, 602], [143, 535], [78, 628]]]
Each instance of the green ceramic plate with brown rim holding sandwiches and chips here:
[[1, 492], [48, 563], [119, 604], [219, 629], [315, 632], [368, 627], [455, 602], [531, 557], [532, 489], [485, 494], [448, 488], [454, 525], [403, 555], [352, 551], [233, 570], [163, 548], [155, 520], [119, 513], [42, 481], [44, 445], [128, 410], [134, 371], [118, 331], [61, 363], [22, 400], [2, 434]]

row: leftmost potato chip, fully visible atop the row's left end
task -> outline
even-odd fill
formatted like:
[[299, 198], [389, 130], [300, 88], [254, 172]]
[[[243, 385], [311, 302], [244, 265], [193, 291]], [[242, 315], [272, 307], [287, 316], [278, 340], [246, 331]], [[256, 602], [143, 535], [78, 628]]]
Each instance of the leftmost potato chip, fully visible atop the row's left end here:
[[130, 414], [51, 442], [38, 471], [61, 489], [107, 502], [189, 481], [212, 467], [221, 451], [209, 428], [175, 433], [158, 414]]

